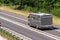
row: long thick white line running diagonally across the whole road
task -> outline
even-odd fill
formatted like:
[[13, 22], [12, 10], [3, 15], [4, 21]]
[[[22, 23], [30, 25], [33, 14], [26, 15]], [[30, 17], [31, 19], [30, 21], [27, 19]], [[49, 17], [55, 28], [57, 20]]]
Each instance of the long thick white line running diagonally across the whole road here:
[[21, 27], [24, 27], [24, 28], [26, 28], [26, 29], [29, 29], [29, 30], [31, 30], [31, 31], [34, 31], [34, 32], [37, 32], [37, 33], [39, 33], [39, 34], [45, 35], [45, 36], [47, 36], [47, 37], [53, 38], [53, 39], [55, 39], [55, 40], [60, 40], [60, 37], [55, 36], [55, 35], [53, 35], [53, 34], [50, 34], [50, 33], [47, 33], [47, 32], [41, 31], [41, 30], [37, 30], [37, 29], [31, 28], [31, 27], [29, 27], [28, 25], [19, 23], [19, 22], [17, 22], [17, 21], [11, 20], [11, 19], [9, 19], [9, 18], [5, 18], [5, 17], [2, 17], [2, 16], [0, 16], [0, 18], [3, 19], [3, 20], [6, 20], [6, 21], [8, 21], [8, 22], [11, 22], [11, 23], [13, 23], [13, 24], [16, 24], [16, 25], [18, 25], [18, 26], [21, 26]]

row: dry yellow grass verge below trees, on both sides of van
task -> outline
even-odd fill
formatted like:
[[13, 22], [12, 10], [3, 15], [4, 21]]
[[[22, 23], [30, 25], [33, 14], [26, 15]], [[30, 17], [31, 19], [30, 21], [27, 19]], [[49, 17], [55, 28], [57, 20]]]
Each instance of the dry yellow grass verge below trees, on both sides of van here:
[[[5, 10], [5, 11], [12, 12], [15, 14], [24, 15], [26, 17], [30, 14], [30, 12], [28, 12], [28, 11], [14, 10], [7, 6], [0, 6], [0, 10]], [[60, 26], [60, 18], [53, 16], [53, 24]]]

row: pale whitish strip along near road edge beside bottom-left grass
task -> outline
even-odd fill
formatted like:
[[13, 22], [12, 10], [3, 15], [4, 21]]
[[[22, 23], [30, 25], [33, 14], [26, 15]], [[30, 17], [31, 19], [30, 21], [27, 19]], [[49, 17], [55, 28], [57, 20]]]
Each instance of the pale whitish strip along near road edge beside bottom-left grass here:
[[15, 35], [15, 36], [19, 37], [20, 40], [21, 40], [21, 39], [23, 39], [23, 40], [32, 40], [31, 38], [26, 37], [26, 36], [24, 36], [24, 35], [22, 35], [22, 34], [20, 34], [20, 33], [17, 33], [17, 32], [15, 32], [15, 31], [13, 31], [13, 30], [11, 30], [11, 29], [9, 29], [9, 28], [1, 27], [1, 29], [5, 30], [5, 31], [7, 31], [7, 32], [9, 32], [9, 33], [11, 33], [12, 35]]

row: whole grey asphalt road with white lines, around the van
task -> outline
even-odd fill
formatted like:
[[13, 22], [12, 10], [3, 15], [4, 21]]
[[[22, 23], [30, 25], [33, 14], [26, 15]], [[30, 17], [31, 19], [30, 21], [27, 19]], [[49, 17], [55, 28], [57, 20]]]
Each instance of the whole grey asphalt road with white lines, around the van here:
[[0, 22], [2, 27], [7, 27], [17, 33], [31, 38], [32, 40], [60, 40], [59, 26], [54, 26], [54, 28], [50, 28], [48, 30], [40, 30], [39, 33], [29, 29], [32, 27], [28, 26], [28, 18], [23, 15], [0, 10]]

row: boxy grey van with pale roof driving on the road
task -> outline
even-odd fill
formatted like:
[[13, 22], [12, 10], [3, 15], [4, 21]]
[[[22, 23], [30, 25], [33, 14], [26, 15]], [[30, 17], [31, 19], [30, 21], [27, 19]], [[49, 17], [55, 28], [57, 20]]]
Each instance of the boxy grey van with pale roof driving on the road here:
[[52, 14], [46, 13], [31, 13], [28, 16], [28, 25], [35, 28], [51, 28], [52, 25]]

